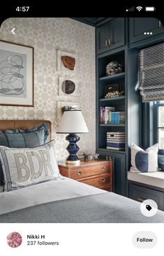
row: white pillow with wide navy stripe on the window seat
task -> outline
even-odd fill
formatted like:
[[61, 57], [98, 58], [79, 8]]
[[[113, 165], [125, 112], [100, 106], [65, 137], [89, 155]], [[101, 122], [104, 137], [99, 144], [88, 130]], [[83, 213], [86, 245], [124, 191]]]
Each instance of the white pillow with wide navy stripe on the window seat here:
[[133, 173], [158, 171], [158, 143], [147, 150], [131, 144], [131, 165]]

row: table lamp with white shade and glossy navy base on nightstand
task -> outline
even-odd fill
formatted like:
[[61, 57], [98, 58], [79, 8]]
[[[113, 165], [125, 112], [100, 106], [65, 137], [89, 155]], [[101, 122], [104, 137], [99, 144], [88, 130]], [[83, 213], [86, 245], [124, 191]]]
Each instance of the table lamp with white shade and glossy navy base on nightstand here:
[[82, 111], [79, 109], [64, 111], [57, 129], [57, 134], [68, 134], [66, 140], [69, 141], [69, 144], [66, 149], [70, 155], [66, 159], [66, 164], [80, 164], [80, 159], [76, 155], [79, 150], [76, 143], [80, 140], [77, 134], [85, 134], [88, 132], [89, 130], [82, 115]]

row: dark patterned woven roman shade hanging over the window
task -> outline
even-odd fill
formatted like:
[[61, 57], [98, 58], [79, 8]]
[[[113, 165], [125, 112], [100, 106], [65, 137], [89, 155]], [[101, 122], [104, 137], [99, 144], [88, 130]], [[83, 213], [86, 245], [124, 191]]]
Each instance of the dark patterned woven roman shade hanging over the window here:
[[140, 50], [142, 101], [164, 100], [164, 43]]

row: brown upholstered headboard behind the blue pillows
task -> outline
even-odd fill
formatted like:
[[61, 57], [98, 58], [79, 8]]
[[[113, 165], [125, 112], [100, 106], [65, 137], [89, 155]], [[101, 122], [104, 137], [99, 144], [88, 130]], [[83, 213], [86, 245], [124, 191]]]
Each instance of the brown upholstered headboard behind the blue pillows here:
[[0, 120], [0, 130], [6, 129], [27, 129], [43, 123], [49, 123], [50, 127], [50, 140], [52, 138], [52, 123], [47, 120]]

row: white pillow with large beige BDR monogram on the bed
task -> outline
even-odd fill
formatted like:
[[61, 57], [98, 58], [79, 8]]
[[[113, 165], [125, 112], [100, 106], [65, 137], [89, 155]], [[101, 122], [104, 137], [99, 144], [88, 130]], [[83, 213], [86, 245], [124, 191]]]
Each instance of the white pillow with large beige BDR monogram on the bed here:
[[43, 181], [60, 178], [54, 141], [37, 148], [0, 146], [5, 191], [17, 190]]

